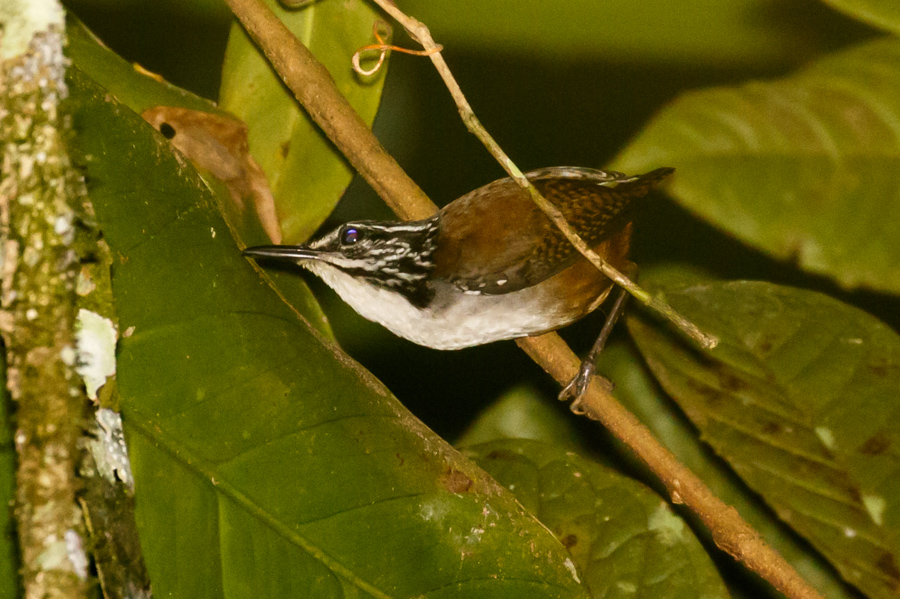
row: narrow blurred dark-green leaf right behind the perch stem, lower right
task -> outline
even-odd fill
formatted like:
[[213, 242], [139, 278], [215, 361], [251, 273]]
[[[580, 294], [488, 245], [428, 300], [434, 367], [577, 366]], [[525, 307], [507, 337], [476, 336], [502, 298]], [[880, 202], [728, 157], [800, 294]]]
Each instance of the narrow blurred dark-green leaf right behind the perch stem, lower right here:
[[[772, 511], [750, 490], [727, 464], [713, 455], [697, 437], [695, 428], [687, 422], [678, 407], [653, 380], [637, 351], [630, 345], [613, 344], [603, 350], [597, 364], [602, 372], [616, 384], [616, 398], [647, 426], [657, 439], [666, 446], [678, 460], [703, 479], [716, 497], [733, 506], [778, 553], [812, 584], [823, 597], [829, 599], [855, 599], [858, 595], [851, 591], [832, 566], [779, 520]], [[623, 458], [644, 474], [642, 480], [656, 482], [653, 475], [639, 462], [623, 444], [618, 443], [618, 451]], [[660, 489], [662, 490], [662, 489]], [[703, 524], [691, 513], [687, 517], [696, 522], [694, 530], [709, 537]], [[709, 539], [711, 542], [711, 539]], [[724, 559], [730, 559], [725, 557]], [[740, 580], [731, 586], [742, 597], [759, 599], [767, 596], [781, 599], [783, 595], [762, 582], [749, 571], [744, 571]], [[730, 581], [729, 581], [730, 582]]]

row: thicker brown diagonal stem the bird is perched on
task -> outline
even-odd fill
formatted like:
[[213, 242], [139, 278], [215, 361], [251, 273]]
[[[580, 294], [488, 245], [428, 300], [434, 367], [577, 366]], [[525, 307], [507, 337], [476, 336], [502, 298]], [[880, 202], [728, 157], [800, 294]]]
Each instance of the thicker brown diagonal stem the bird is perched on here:
[[[260, 0], [226, 1], [275, 65], [288, 87], [331, 137], [329, 131], [334, 128], [332, 123], [338, 120], [334, 114], [352, 110], [334, 86], [331, 77], [327, 72], [323, 76], [324, 69], [321, 65], [307, 68], [309, 59], [306, 56], [309, 51], [290, 35]], [[376, 1], [380, 3], [380, 0]], [[385, 10], [388, 9], [385, 7]], [[298, 47], [300, 50], [297, 50]], [[294, 55], [297, 52], [303, 55], [302, 59]], [[277, 61], [273, 57], [277, 57]], [[310, 86], [316, 89], [315, 94], [305, 91], [305, 88]], [[319, 119], [326, 122], [323, 123]], [[371, 176], [375, 179], [390, 177], [393, 181], [405, 182], [390, 186], [373, 183], [373, 187], [379, 193], [382, 193], [381, 190], [391, 190], [390, 193], [384, 191], [381, 197], [399, 215], [407, 215], [405, 218], [424, 218], [434, 213], [436, 210], [434, 205], [427, 200], [427, 203], [422, 203], [421, 198], [424, 194], [400, 170], [396, 162], [391, 161], [390, 166], [386, 167], [391, 169], [391, 172], [373, 167], [375, 163], [383, 164], [379, 156], [384, 150], [368, 129], [365, 129], [364, 133], [356, 131], [353, 135], [331, 139], [361, 172], [363, 168], [358, 166], [357, 162], [365, 163], [365, 171], [372, 173]], [[350, 144], [349, 147], [346, 144]], [[411, 199], [413, 196], [417, 199]], [[409, 216], [412, 214], [421, 216]], [[562, 383], [568, 382], [578, 370], [577, 357], [555, 333], [520, 339], [518, 343], [541, 367]], [[741, 519], [734, 508], [715, 497], [703, 481], [681, 465], [652, 433], [609, 393], [601, 390], [596, 384], [592, 385], [583, 398], [582, 407], [591, 418], [602, 422], [628, 445], [660, 477], [673, 501], [684, 503], [701, 517], [722, 549], [759, 573], [788, 597], [821, 599], [790, 564], [760, 539], [759, 534]]]

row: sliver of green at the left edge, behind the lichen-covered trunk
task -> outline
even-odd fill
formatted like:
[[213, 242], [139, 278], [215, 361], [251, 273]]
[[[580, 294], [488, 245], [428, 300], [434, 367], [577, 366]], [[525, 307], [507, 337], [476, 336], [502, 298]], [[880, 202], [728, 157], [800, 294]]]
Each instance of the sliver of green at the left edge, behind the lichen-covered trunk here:
[[0, 599], [19, 595], [19, 564], [12, 506], [16, 497], [16, 452], [6, 393], [6, 352], [0, 355]]

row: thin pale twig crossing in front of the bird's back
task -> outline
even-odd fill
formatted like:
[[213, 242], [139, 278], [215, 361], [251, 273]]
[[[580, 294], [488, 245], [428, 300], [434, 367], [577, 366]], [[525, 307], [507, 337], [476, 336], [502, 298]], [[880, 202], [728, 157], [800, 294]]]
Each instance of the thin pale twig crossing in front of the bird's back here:
[[456, 102], [456, 106], [459, 109], [460, 117], [462, 117], [463, 122], [466, 127], [472, 132], [481, 143], [488, 149], [491, 155], [497, 159], [497, 162], [503, 167], [503, 169], [509, 173], [509, 176], [515, 180], [516, 183], [519, 184], [523, 189], [527, 190], [529, 195], [531, 195], [531, 199], [535, 204], [547, 215], [547, 217], [553, 221], [553, 223], [559, 228], [560, 231], [566, 236], [566, 239], [575, 246], [581, 254], [587, 258], [591, 264], [593, 264], [597, 269], [600, 270], [604, 275], [615, 281], [617, 285], [624, 288], [628, 293], [637, 298], [639, 302], [650, 307], [651, 309], [659, 312], [663, 316], [665, 316], [669, 321], [672, 322], [676, 327], [682, 330], [686, 335], [696, 340], [700, 345], [702, 345], [706, 349], [712, 349], [715, 347], [719, 340], [707, 333], [704, 333], [697, 326], [681, 316], [678, 312], [676, 312], [671, 306], [669, 306], [665, 301], [661, 298], [654, 297], [647, 293], [644, 289], [634, 283], [631, 279], [620, 273], [618, 270], [613, 268], [606, 260], [601, 258], [593, 249], [591, 249], [588, 244], [584, 242], [581, 237], [572, 229], [569, 223], [566, 221], [565, 217], [562, 215], [562, 212], [559, 209], [547, 201], [541, 193], [535, 189], [534, 185], [522, 174], [522, 171], [519, 170], [513, 161], [507, 156], [506, 152], [500, 147], [500, 145], [494, 140], [494, 138], [488, 133], [487, 129], [481, 124], [478, 120], [478, 117], [475, 116], [475, 112], [472, 110], [472, 107], [469, 105], [468, 100], [463, 95], [462, 90], [459, 87], [459, 84], [456, 82], [456, 78], [453, 77], [453, 73], [450, 72], [450, 67], [447, 66], [447, 63], [444, 61], [444, 57], [441, 55], [441, 46], [434, 43], [434, 39], [431, 37], [431, 32], [428, 30], [423, 23], [413, 19], [412, 17], [406, 15], [397, 8], [393, 3], [389, 0], [375, 0], [375, 3], [378, 4], [381, 8], [385, 10], [389, 15], [391, 15], [394, 19], [397, 20], [406, 31], [412, 36], [414, 40], [422, 45], [425, 48], [425, 51], [428, 52], [428, 57], [431, 58], [431, 61], [434, 63], [435, 68], [440, 74], [441, 78], [444, 80], [444, 84], [447, 86], [447, 89], [450, 91], [450, 95], [453, 96], [453, 100]]

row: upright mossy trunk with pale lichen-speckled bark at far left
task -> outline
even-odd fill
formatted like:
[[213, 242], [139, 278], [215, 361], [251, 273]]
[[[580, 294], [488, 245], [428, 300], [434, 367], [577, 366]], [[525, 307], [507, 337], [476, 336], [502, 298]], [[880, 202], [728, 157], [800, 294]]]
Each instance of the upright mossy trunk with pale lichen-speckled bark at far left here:
[[[17, 405], [16, 520], [25, 597], [77, 598], [86, 596], [88, 566], [75, 500], [85, 402], [75, 372], [72, 245], [83, 183], [60, 110], [62, 8], [55, 0], [15, 5], [3, 15], [0, 64], [0, 331]], [[19, 50], [16, 36], [25, 36]]]

